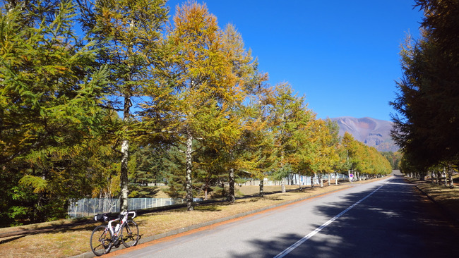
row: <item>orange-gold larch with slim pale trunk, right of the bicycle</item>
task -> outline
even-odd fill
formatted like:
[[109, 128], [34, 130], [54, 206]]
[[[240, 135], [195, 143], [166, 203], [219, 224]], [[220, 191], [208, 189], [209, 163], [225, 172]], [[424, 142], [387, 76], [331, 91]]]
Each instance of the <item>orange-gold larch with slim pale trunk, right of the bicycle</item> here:
[[[228, 59], [224, 33], [204, 4], [177, 6], [164, 47], [169, 55], [158, 70], [170, 92], [162, 132], [174, 134], [186, 156], [186, 203], [193, 209], [193, 153], [201, 145], [237, 137], [232, 106], [242, 102], [244, 91]], [[152, 102], [162, 96], [149, 95]], [[150, 107], [151, 105], [145, 105]], [[150, 117], [153, 117], [150, 115]]]

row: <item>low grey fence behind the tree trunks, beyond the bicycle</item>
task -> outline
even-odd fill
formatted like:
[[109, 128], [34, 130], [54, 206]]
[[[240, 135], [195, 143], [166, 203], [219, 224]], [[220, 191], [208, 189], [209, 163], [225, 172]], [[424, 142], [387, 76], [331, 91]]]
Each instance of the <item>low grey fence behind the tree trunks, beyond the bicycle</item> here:
[[[193, 202], [202, 201], [201, 198], [193, 198]], [[185, 199], [177, 198], [129, 198], [128, 207], [132, 209], [148, 209], [162, 207], [173, 204], [183, 204]], [[79, 199], [76, 202], [70, 202], [68, 205], [68, 216], [79, 218], [84, 216], [94, 216], [100, 213], [118, 212], [119, 199], [110, 198], [92, 198]]]

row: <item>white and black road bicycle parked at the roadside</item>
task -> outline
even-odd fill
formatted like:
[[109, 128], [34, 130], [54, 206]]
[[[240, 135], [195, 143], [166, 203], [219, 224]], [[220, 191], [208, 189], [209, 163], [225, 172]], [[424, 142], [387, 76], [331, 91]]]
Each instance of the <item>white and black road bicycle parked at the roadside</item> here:
[[[129, 214], [133, 215], [131, 219], [128, 219]], [[140, 235], [138, 235], [137, 223], [132, 220], [134, 217], [136, 217], [136, 211], [121, 212], [117, 219], [109, 219], [107, 214], [95, 215], [95, 221], [108, 221], [108, 224], [94, 228], [90, 239], [93, 253], [96, 256], [107, 254], [112, 247], [121, 245], [120, 240], [126, 248], [137, 245]], [[117, 225], [112, 226], [115, 221], [118, 221]]]

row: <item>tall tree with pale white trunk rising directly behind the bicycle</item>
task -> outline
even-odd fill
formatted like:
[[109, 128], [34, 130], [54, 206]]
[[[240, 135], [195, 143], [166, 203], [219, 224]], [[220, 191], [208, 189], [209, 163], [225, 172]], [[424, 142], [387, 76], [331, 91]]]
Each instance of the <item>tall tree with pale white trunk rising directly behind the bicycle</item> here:
[[121, 211], [128, 198], [129, 141], [136, 136], [133, 102], [142, 88], [151, 83], [150, 70], [158, 60], [158, 42], [167, 20], [165, 0], [97, 0], [80, 1], [83, 29], [97, 40], [100, 65], [109, 70], [106, 88], [110, 109], [121, 111], [124, 126], [114, 137], [121, 142]]

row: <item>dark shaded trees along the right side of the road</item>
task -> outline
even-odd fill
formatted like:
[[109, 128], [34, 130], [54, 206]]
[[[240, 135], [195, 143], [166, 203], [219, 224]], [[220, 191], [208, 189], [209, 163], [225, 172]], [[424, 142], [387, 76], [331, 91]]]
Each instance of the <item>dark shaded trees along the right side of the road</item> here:
[[417, 0], [424, 12], [420, 39], [400, 51], [403, 78], [391, 105], [393, 139], [403, 150], [400, 169], [424, 178], [452, 174], [459, 165], [459, 2]]

